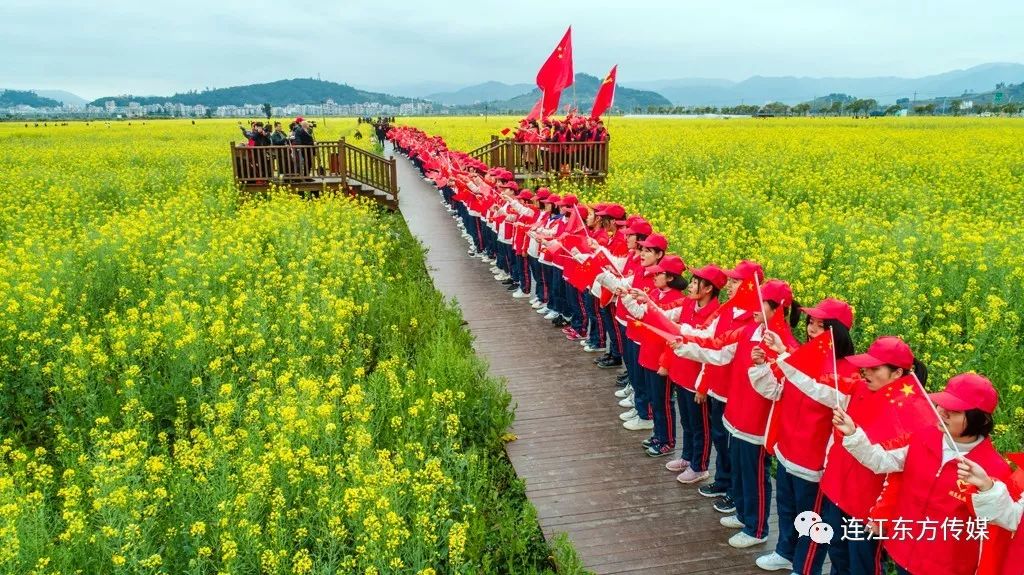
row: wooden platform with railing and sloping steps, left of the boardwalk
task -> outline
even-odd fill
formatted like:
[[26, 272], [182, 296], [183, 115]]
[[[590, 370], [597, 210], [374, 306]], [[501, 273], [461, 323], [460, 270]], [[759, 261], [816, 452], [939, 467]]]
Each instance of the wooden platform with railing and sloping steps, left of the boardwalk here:
[[385, 159], [345, 141], [313, 145], [249, 147], [231, 142], [234, 183], [263, 191], [271, 185], [317, 195], [349, 193], [369, 197], [389, 210], [398, 209], [394, 157]]

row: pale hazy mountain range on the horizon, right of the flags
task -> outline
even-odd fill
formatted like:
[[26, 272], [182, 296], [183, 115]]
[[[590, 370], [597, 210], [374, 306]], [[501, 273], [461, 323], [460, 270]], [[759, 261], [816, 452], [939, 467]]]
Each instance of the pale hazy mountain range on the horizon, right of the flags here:
[[1024, 81], [1024, 64], [985, 63], [923, 78], [797, 78], [754, 76], [742, 82], [718, 79], [678, 79], [636, 82], [635, 86], [657, 90], [678, 105], [764, 104], [782, 101], [795, 104], [830, 93], [873, 98], [893, 103], [899, 98], [918, 99], [991, 90], [998, 83]]

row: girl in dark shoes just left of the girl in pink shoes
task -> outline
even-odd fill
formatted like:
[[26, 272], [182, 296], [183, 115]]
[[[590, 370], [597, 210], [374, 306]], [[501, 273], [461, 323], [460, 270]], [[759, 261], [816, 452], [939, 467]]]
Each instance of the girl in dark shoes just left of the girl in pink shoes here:
[[[634, 289], [626, 296], [624, 303], [630, 315], [642, 318], [647, 305], [657, 306], [663, 310], [680, 308], [685, 302], [683, 295], [683, 290], [686, 288], [686, 281], [683, 279], [686, 264], [676, 255], [667, 255], [656, 265], [646, 268], [644, 273], [653, 278], [653, 285], [646, 292]], [[660, 457], [672, 453], [676, 448], [672, 386], [668, 385], [668, 369], [660, 366], [662, 354], [668, 349], [668, 345], [662, 336], [648, 329], [638, 330], [638, 338], [640, 353], [637, 356], [637, 363], [646, 391], [650, 394], [651, 419], [654, 422], [653, 434], [642, 444], [647, 455]]]

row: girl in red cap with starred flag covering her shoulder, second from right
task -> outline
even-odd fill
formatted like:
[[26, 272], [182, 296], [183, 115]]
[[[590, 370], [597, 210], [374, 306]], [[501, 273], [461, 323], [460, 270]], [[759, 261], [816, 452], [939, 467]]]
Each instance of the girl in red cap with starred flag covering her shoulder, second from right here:
[[[866, 353], [846, 359], [861, 370], [861, 375], [846, 383], [850, 393], [845, 410], [859, 422], [871, 442], [897, 445], [910, 433], [934, 423], [935, 416], [915, 381], [925, 382], [927, 370], [903, 340], [879, 338]], [[839, 432], [834, 432], [819, 484], [819, 516], [831, 527], [834, 536], [828, 544], [809, 543], [806, 555], [794, 563], [802, 565], [799, 573], [816, 575], [821, 573], [827, 551], [837, 575], [881, 575], [885, 573], [885, 555], [880, 541], [843, 534], [851, 524], [866, 522], [882, 494], [885, 477], [854, 458], [842, 439]]]

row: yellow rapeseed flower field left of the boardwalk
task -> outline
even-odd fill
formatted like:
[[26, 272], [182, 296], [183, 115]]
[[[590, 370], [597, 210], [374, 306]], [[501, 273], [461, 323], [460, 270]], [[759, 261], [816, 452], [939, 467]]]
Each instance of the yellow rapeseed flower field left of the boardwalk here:
[[240, 195], [240, 136], [0, 124], [0, 573], [545, 572], [400, 216]]

